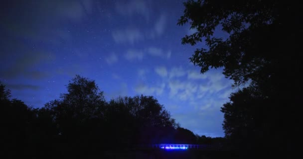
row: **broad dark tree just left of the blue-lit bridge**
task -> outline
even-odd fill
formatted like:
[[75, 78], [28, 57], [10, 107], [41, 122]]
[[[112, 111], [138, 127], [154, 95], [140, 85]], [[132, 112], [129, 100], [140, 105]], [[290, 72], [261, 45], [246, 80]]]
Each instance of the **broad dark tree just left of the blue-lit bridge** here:
[[121, 128], [124, 131], [132, 129], [132, 132], [136, 134], [136, 136], [132, 134], [131, 138], [134, 143], [156, 144], [173, 140], [169, 136], [174, 132], [177, 124], [163, 105], [160, 105], [152, 96], [119, 97], [110, 102], [110, 108], [113, 105], [128, 112], [128, 118], [132, 124], [128, 124], [130, 126], [128, 128]]

